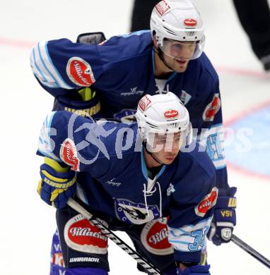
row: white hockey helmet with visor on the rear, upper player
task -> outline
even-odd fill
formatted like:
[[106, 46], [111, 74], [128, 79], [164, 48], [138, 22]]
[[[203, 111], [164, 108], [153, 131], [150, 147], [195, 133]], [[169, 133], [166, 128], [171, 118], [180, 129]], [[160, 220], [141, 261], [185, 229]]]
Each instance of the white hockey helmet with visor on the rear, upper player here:
[[204, 49], [204, 25], [192, 1], [160, 1], [153, 8], [150, 25], [152, 36], [156, 35], [158, 47], [168, 56], [177, 57], [168, 47], [171, 41], [178, 42], [177, 49], [187, 47], [187, 44], [194, 45], [189, 60], [201, 55]]

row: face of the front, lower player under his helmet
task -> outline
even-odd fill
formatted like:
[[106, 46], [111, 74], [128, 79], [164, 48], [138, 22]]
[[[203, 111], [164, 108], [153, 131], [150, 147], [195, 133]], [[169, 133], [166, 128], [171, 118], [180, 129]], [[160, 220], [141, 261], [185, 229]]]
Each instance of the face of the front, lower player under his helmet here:
[[177, 157], [182, 146], [181, 133], [166, 135], [155, 134], [152, 154], [163, 164], [171, 164]]

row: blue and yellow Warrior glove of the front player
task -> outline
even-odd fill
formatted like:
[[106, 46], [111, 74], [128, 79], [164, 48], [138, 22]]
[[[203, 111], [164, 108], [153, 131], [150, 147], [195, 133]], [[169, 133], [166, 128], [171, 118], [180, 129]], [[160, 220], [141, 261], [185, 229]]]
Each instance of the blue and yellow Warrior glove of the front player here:
[[40, 166], [40, 176], [37, 193], [42, 200], [56, 208], [65, 207], [69, 197], [76, 193], [76, 172], [45, 158], [45, 164]]

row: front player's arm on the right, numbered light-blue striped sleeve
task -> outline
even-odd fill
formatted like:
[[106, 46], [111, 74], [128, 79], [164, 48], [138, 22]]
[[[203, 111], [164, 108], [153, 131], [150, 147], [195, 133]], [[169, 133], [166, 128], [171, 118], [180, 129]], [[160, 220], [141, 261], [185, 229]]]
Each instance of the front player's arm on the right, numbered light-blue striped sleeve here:
[[210, 267], [201, 252], [211, 225], [218, 188], [213, 167], [211, 173], [196, 170], [196, 181], [194, 173], [189, 173], [185, 179], [189, 187], [175, 184], [175, 192], [170, 195], [168, 240], [174, 248], [178, 274], [183, 275], [209, 274]]

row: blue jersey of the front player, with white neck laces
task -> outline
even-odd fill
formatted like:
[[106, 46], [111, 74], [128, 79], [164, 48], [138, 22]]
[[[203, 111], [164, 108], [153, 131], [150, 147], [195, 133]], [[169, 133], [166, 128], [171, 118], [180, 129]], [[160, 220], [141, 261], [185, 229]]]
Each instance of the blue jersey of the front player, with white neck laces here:
[[141, 148], [136, 123], [97, 124], [67, 111], [47, 116], [39, 142], [39, 154], [79, 171], [79, 197], [90, 209], [128, 224], [170, 216], [175, 259], [199, 262], [218, 197], [211, 159], [198, 147], [180, 152], [151, 181]]

